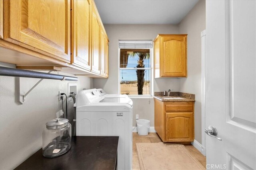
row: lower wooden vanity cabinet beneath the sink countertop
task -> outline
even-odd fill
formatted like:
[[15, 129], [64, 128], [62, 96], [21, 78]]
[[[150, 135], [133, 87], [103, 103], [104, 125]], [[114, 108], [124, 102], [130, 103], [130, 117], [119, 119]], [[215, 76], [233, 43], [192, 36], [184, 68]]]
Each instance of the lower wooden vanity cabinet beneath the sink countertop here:
[[155, 129], [163, 142], [194, 141], [194, 102], [155, 100]]

